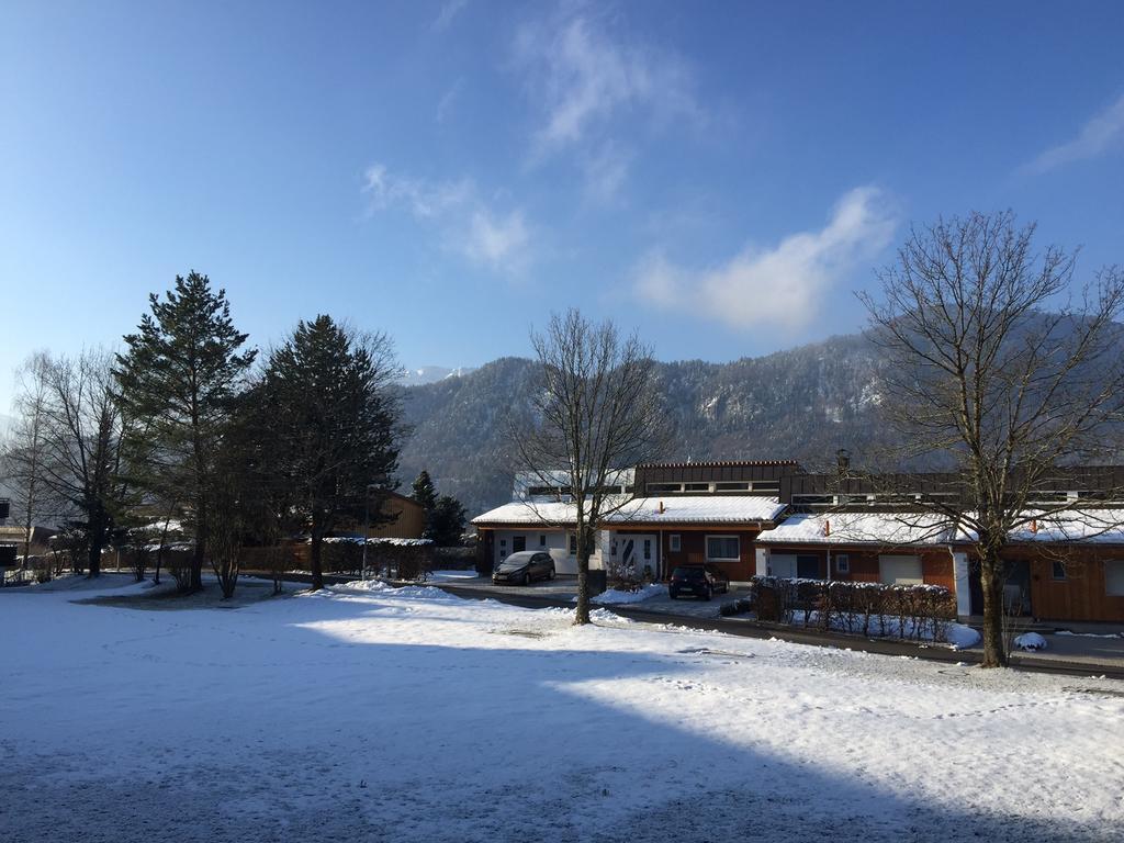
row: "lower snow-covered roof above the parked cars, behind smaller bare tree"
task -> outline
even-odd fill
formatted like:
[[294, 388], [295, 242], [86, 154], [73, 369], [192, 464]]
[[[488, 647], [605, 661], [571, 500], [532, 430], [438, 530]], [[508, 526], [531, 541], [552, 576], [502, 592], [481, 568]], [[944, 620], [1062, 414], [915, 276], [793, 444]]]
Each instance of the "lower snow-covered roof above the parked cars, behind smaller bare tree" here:
[[[660, 511], [660, 506], [663, 511]], [[635, 498], [606, 520], [614, 524], [745, 524], [772, 522], [785, 510], [777, 498], [750, 495]], [[472, 519], [473, 524], [573, 524], [574, 505], [514, 501]]]

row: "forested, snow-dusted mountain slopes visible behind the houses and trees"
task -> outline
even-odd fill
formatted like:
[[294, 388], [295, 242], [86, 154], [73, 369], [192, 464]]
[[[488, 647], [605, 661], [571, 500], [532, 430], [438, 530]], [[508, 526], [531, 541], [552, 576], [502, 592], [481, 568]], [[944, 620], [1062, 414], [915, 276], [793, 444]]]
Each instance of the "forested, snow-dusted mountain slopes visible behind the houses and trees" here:
[[[426, 469], [470, 516], [509, 500], [514, 461], [504, 419], [527, 406], [534, 366], [502, 357], [405, 388], [413, 435], [401, 453], [404, 484]], [[874, 348], [861, 335], [729, 363], [659, 363], [676, 428], [668, 459], [794, 459], [815, 468], [834, 463], [840, 447], [861, 459], [878, 429], [876, 375]]]

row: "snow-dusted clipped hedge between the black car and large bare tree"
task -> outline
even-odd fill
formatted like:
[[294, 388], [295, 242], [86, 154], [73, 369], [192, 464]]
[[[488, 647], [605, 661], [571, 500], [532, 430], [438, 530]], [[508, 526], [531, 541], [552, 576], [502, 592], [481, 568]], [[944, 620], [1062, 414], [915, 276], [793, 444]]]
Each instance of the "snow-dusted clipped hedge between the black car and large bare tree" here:
[[942, 586], [753, 578], [758, 618], [861, 635], [945, 641], [957, 598]]

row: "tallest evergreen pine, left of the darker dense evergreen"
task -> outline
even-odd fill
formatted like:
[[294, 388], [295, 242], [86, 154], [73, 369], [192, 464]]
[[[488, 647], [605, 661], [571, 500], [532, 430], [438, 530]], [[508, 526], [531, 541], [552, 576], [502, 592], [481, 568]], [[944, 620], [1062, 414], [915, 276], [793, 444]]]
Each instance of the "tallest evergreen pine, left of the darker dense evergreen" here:
[[246, 334], [235, 329], [226, 291], [207, 275], [176, 275], [163, 300], [149, 296], [151, 312], [117, 355], [125, 413], [147, 424], [127, 441], [129, 471], [154, 497], [184, 500], [194, 526], [190, 590], [202, 587], [209, 537], [214, 466], [232, 399], [256, 352], [239, 352]]

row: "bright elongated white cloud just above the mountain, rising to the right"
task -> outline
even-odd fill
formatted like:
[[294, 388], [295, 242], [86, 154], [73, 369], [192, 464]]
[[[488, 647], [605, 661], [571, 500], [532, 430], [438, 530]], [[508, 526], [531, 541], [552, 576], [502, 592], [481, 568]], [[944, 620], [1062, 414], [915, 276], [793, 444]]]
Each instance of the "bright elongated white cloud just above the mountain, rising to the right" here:
[[772, 248], [747, 247], [718, 266], [687, 269], [654, 253], [637, 268], [634, 291], [653, 307], [734, 328], [801, 328], [818, 315], [823, 293], [889, 244], [895, 226], [885, 194], [858, 188], [840, 199], [823, 229], [791, 234]]

